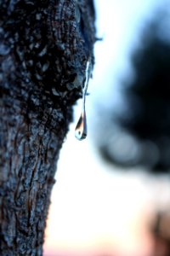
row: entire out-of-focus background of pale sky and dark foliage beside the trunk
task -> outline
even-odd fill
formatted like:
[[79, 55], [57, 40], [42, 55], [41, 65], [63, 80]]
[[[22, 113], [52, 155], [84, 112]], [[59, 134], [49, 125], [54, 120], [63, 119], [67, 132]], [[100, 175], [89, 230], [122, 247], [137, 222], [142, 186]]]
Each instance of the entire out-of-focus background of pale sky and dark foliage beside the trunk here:
[[45, 256], [170, 255], [170, 3], [96, 0], [88, 137], [60, 152]]

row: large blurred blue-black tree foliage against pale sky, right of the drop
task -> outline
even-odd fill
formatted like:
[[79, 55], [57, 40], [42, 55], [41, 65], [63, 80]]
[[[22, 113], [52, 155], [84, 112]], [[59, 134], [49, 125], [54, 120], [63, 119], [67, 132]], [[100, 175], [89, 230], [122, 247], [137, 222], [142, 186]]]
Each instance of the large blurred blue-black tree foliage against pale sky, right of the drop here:
[[134, 79], [122, 84], [128, 114], [113, 110], [111, 116], [112, 133], [115, 124], [122, 132], [99, 145], [105, 160], [124, 167], [145, 166], [154, 173], [168, 172], [170, 167], [170, 37], [163, 17], [145, 26], [133, 51]]

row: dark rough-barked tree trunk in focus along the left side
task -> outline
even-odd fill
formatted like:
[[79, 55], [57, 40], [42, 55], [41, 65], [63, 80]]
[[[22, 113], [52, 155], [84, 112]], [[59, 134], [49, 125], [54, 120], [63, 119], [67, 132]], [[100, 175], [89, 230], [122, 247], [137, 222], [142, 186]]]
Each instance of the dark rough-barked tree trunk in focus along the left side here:
[[93, 0], [0, 0], [0, 255], [42, 255], [59, 149], [94, 41]]

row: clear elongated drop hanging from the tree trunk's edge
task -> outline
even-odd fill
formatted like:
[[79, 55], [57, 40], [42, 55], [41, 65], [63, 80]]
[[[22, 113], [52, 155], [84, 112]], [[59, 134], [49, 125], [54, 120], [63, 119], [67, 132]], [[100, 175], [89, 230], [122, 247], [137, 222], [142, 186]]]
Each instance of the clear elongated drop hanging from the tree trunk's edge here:
[[77, 137], [77, 139], [80, 141], [86, 138], [88, 133], [85, 103], [86, 103], [86, 94], [88, 90], [88, 80], [90, 78], [90, 72], [91, 72], [90, 64], [91, 64], [90, 60], [88, 60], [87, 67], [86, 67], [86, 79], [85, 79], [85, 83], [82, 91], [82, 113], [80, 118], [78, 119], [77, 126], [75, 129], [75, 137]]

